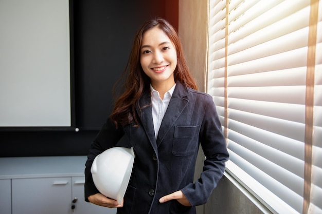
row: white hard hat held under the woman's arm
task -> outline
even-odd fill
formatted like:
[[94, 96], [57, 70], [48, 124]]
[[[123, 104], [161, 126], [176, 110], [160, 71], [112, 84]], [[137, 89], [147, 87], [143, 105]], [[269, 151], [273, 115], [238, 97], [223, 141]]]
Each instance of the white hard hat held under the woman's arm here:
[[133, 147], [113, 147], [97, 155], [91, 168], [96, 188], [120, 204], [129, 184], [133, 163]]

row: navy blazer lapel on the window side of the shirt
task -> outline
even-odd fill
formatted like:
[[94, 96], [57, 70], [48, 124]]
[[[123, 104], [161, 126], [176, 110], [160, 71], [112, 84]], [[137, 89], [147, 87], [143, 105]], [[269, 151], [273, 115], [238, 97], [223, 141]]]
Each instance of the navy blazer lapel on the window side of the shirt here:
[[187, 88], [184, 87], [180, 82], [177, 82], [157, 135], [157, 146], [162, 143], [167, 132], [170, 130], [170, 128], [173, 126], [175, 121], [187, 106], [189, 101], [188, 99], [184, 98], [184, 96], [186, 96], [187, 94]]

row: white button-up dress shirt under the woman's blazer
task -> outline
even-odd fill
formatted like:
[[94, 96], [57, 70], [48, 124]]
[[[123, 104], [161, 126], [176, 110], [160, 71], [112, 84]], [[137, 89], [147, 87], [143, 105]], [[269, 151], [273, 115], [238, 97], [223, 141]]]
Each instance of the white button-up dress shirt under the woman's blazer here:
[[160, 98], [160, 94], [158, 91], [156, 91], [151, 85], [151, 98], [152, 98], [152, 118], [153, 118], [153, 125], [154, 125], [154, 133], [155, 133], [155, 139], [157, 138], [157, 134], [159, 132], [162, 119], [166, 113], [166, 110], [169, 106], [171, 96], [173, 94], [173, 91], [175, 89], [174, 84], [172, 88], [167, 91], [164, 95], [163, 100]]

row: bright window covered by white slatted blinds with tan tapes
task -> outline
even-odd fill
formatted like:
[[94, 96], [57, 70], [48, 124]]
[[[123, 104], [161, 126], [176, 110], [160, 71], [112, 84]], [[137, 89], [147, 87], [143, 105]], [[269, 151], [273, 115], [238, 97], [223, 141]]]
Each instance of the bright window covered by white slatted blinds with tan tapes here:
[[273, 213], [322, 213], [322, 3], [209, 0], [226, 171]]

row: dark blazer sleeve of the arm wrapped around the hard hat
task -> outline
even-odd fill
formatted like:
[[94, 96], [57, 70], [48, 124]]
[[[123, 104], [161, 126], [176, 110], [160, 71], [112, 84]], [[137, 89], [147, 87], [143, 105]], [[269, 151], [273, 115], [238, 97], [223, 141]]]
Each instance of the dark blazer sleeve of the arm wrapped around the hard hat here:
[[88, 151], [87, 161], [85, 163], [85, 201], [88, 202], [88, 197], [92, 194], [99, 193], [98, 189], [95, 187], [91, 173], [91, 167], [95, 157], [106, 149], [115, 146], [123, 134], [124, 132], [122, 127], [119, 126], [119, 128], [116, 129], [112, 121], [108, 119], [92, 142], [91, 148]]

